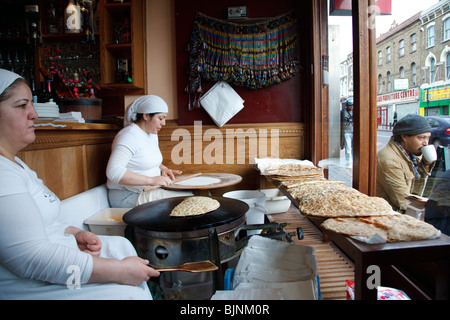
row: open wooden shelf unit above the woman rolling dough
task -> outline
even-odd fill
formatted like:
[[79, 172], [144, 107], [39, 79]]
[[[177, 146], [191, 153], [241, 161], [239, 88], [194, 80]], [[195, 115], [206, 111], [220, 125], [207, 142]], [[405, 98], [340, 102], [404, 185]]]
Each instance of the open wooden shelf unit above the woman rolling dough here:
[[112, 94], [143, 93], [143, 1], [100, 0], [99, 6], [102, 88]]

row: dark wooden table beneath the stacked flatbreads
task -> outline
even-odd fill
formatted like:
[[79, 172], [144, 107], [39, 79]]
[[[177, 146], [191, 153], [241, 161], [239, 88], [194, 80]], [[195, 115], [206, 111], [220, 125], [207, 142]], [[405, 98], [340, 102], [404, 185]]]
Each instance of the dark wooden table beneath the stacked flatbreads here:
[[[284, 188], [279, 189], [298, 210], [298, 201]], [[308, 221], [315, 226], [322, 235], [322, 241], [326, 241], [324, 243], [332, 242], [343, 253], [342, 257], [352, 261], [356, 300], [377, 299], [377, 290], [366, 285], [373, 275], [368, 271], [369, 266], [380, 268], [382, 286], [401, 289], [413, 300], [450, 299], [450, 237], [442, 234], [434, 240], [366, 244], [321, 228], [325, 218], [306, 217], [301, 213], [299, 216], [304, 225]]]

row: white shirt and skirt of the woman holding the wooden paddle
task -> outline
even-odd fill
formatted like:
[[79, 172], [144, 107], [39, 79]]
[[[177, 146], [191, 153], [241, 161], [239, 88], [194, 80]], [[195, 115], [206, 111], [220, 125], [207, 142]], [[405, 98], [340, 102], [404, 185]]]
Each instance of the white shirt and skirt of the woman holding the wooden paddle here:
[[[151, 299], [139, 287], [86, 284], [93, 259], [80, 251], [59, 220], [60, 200], [19, 158], [0, 156], [0, 300], [4, 299]], [[100, 237], [105, 258], [136, 255], [123, 237]], [[111, 241], [109, 241], [111, 239]], [[81, 290], [70, 290], [68, 270], [76, 266]]]

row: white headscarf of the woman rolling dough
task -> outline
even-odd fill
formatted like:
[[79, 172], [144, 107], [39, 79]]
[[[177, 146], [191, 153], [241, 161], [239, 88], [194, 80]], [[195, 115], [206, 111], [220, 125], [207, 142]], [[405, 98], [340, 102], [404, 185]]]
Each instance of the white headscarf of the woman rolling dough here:
[[167, 103], [158, 96], [148, 95], [137, 98], [127, 107], [123, 119], [124, 127], [136, 121], [138, 113], [167, 113], [169, 107]]

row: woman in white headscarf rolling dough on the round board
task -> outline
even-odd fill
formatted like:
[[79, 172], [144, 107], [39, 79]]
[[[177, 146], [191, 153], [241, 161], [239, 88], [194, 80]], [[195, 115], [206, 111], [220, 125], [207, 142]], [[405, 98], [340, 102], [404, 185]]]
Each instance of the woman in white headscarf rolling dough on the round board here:
[[162, 164], [158, 132], [166, 124], [168, 107], [158, 96], [147, 95], [128, 106], [124, 128], [114, 139], [106, 168], [108, 197], [113, 208], [134, 208], [153, 200], [192, 195], [149, 187], [169, 186], [181, 171]]

